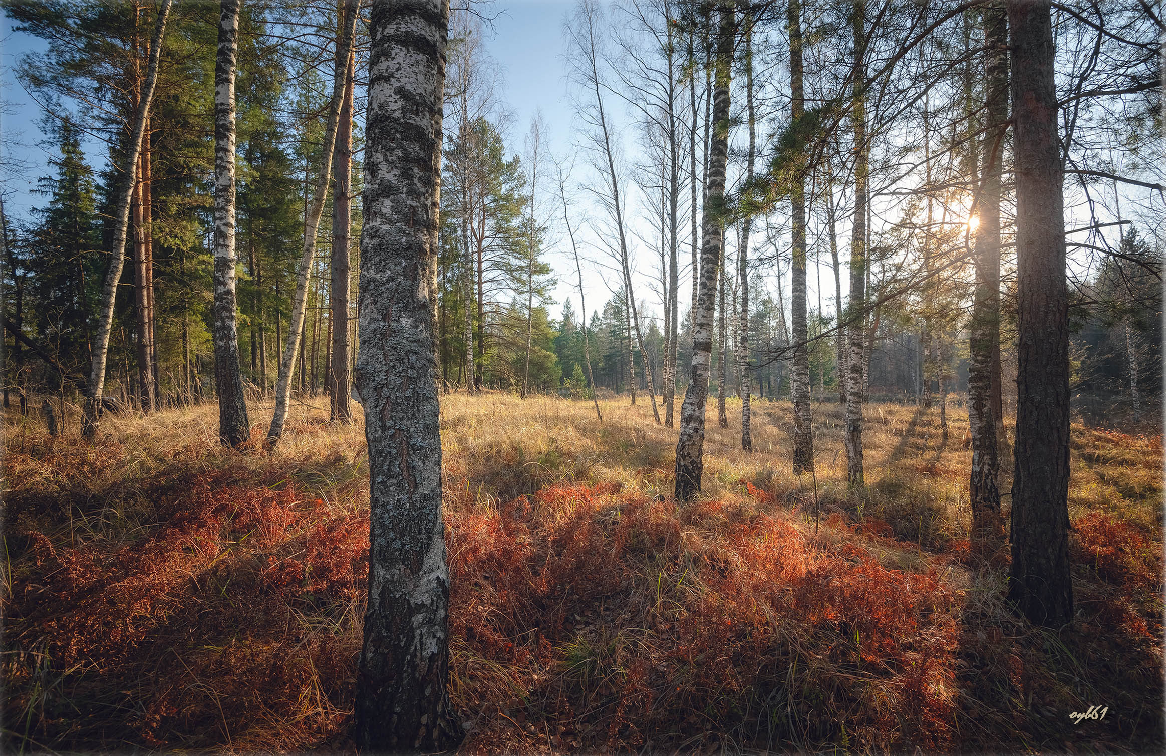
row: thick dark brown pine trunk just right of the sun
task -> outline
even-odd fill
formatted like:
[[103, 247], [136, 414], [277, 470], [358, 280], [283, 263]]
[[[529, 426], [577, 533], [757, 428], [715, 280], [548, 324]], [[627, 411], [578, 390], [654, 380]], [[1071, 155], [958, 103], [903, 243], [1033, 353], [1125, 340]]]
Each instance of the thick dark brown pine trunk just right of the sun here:
[[1017, 429], [1009, 598], [1035, 624], [1073, 618], [1069, 337], [1052, 4], [1009, 0], [1017, 196]]

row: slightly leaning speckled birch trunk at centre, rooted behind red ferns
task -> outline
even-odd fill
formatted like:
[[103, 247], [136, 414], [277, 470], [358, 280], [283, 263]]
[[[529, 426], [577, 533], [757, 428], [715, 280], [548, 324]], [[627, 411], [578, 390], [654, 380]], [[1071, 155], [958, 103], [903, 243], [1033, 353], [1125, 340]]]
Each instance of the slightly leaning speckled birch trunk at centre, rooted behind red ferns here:
[[717, 292], [721, 242], [724, 235], [725, 162], [729, 156], [729, 86], [732, 77], [733, 1], [719, 2], [721, 28], [717, 34], [716, 128], [710, 145], [708, 192], [704, 200], [701, 240], [701, 276], [696, 320], [693, 322], [693, 363], [680, 408], [680, 438], [676, 441], [676, 501], [688, 501], [701, 490], [704, 471], [704, 405], [709, 393], [709, 362], [712, 356], [712, 309]]

